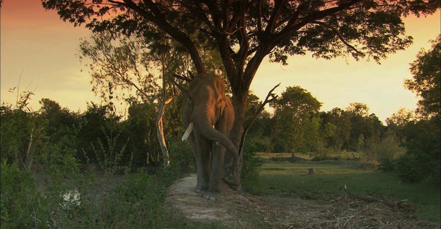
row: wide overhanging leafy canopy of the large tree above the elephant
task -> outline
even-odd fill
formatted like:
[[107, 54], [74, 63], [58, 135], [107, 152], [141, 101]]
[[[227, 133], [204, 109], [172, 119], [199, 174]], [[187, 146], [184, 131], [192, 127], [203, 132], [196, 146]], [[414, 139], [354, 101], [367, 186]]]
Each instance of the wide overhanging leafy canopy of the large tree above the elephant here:
[[[240, 47], [240, 50], [245, 49], [243, 60], [246, 60], [254, 54], [249, 52], [249, 49], [254, 50], [258, 47], [260, 50], [263, 47], [271, 47], [267, 48], [264, 56], [269, 54], [271, 61], [283, 64], [287, 64], [287, 55], [305, 54], [308, 51], [314, 57], [335, 58], [350, 55], [357, 60], [367, 57], [379, 61], [380, 58], [385, 58], [386, 54], [395, 53], [411, 44], [411, 37], [404, 34], [402, 16], [431, 14], [439, 7], [438, 1], [429, 1], [429, 3], [391, 1], [387, 5], [382, 4], [381, 1], [356, 1], [345, 4], [327, 1], [314, 3], [294, 1], [278, 4], [262, 1], [258, 6], [240, 5], [243, 10], [236, 12], [236, 8], [239, 7], [237, 4], [221, 7], [214, 1], [209, 1], [206, 5], [203, 3], [173, 5], [173, 2], [169, 1], [155, 4], [134, 2], [130, 5], [117, 2], [113, 3], [112, 7], [107, 6], [103, 1], [95, 1], [91, 5], [87, 1], [43, 0], [42, 3], [47, 10], [57, 10], [64, 21], [70, 21], [74, 25], [85, 24], [86, 28], [96, 32], [113, 31], [128, 35], [141, 32], [145, 43], [153, 47], [158, 46], [161, 38], [164, 37], [163, 32], [166, 32], [187, 48], [195, 59], [196, 47], [207, 50], [209, 47], [214, 47], [216, 42], [220, 43], [223, 39], [227, 39], [230, 42], [226, 44], [227, 46], [223, 46], [225, 50], [219, 50], [220, 54], [229, 51], [227, 48], [232, 50], [232, 47]], [[205, 6], [210, 6], [211, 10], [205, 10]], [[285, 10], [286, 8], [291, 10]], [[112, 12], [111, 10], [116, 10], [118, 13], [101, 20], [102, 15]], [[147, 13], [131, 14], [131, 10], [143, 10]], [[232, 27], [227, 28], [227, 31], [220, 30], [221, 25], [212, 22], [223, 19], [220, 15], [225, 12], [232, 14], [231, 21], [226, 22]], [[240, 15], [243, 15], [244, 19], [236, 21]], [[292, 17], [302, 20], [286, 20]], [[205, 20], [209, 18], [213, 20]], [[216, 28], [216, 30], [206, 33], [197, 28]], [[244, 31], [239, 30], [240, 28]], [[249, 34], [246, 45], [243, 44], [243, 39], [236, 38], [236, 32]], [[257, 39], [257, 34], [263, 32], [268, 39]], [[190, 37], [192, 40], [189, 39]], [[362, 44], [362, 46], [354, 47], [351, 44]], [[227, 58], [224, 55], [223, 57]], [[234, 55], [230, 58], [239, 57]], [[245, 69], [243, 67], [245, 63], [238, 62], [242, 66], [236, 67]]]

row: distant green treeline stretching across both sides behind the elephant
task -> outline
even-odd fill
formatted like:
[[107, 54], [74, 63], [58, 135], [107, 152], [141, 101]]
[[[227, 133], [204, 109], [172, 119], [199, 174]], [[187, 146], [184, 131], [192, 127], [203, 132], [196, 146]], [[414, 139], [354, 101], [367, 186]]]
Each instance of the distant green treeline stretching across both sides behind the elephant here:
[[[170, 151], [181, 150], [176, 145], [182, 144], [183, 100], [177, 98], [165, 109], [164, 134]], [[39, 111], [28, 111], [25, 105], [1, 107], [1, 160], [23, 169], [33, 163], [69, 160], [121, 171], [161, 166], [156, 105], [132, 102], [123, 120], [110, 105], [90, 102], [79, 113], [48, 98], [40, 103]], [[260, 103], [256, 96], [249, 96], [248, 120]], [[329, 160], [342, 159], [338, 154], [350, 151], [361, 156], [343, 159], [380, 164], [380, 168], [397, 171], [403, 180], [440, 180], [439, 118], [417, 118], [413, 111], [401, 109], [384, 126], [367, 105], [358, 102], [346, 109], [319, 111], [321, 103], [301, 87], [287, 87], [270, 105], [274, 114], [260, 113], [247, 134], [245, 153], [309, 153], [315, 160]]]

